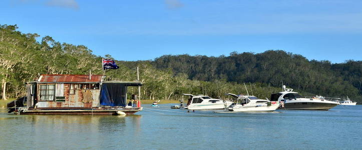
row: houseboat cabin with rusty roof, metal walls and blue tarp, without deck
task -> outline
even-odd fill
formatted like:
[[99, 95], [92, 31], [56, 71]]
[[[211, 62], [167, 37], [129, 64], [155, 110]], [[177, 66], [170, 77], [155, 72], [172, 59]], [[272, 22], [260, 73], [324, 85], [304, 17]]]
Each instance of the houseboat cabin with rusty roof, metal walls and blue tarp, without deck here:
[[104, 81], [103, 75], [42, 74], [27, 82], [27, 107], [125, 107], [127, 87], [141, 85], [140, 81]]

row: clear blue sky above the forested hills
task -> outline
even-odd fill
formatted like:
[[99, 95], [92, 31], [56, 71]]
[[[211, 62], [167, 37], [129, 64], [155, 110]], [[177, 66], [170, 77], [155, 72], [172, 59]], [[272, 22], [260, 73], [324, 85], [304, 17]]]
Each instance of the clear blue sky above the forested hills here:
[[5, 0], [0, 24], [118, 60], [268, 49], [362, 58], [362, 0]]

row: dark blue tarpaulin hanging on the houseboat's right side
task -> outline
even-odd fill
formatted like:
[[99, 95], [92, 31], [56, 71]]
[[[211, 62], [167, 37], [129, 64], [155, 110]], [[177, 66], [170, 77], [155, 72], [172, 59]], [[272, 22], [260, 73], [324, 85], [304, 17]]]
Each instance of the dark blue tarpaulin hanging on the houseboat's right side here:
[[126, 106], [127, 86], [119, 83], [103, 83], [101, 88], [102, 106]]

